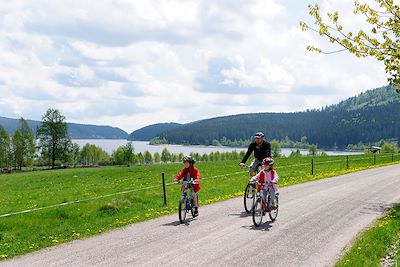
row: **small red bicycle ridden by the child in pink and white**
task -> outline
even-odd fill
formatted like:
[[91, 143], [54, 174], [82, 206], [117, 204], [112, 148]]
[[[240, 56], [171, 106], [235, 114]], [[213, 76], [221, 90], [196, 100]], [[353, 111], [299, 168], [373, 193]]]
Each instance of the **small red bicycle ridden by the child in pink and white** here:
[[[257, 184], [262, 186], [262, 189], [257, 192], [256, 201], [252, 210], [253, 223], [256, 227], [262, 224], [263, 217], [266, 213], [268, 213], [271, 221], [275, 221], [278, 216], [279, 210], [279, 193], [275, 194], [275, 207], [270, 205], [270, 194], [269, 188], [272, 186], [272, 183], [268, 185], [267, 189], [264, 189], [263, 184], [257, 182]], [[265, 197], [263, 197], [265, 196]]]

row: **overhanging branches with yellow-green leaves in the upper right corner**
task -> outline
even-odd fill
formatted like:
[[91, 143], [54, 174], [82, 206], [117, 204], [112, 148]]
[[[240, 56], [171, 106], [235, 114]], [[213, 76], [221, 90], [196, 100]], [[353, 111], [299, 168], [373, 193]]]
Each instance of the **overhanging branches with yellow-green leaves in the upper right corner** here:
[[[389, 75], [389, 83], [396, 86], [400, 92], [400, 7], [394, 4], [394, 0], [375, 0], [377, 7], [361, 4], [355, 1], [355, 14], [365, 16], [370, 24], [370, 33], [360, 29], [357, 33], [345, 32], [339, 24], [339, 13], [328, 13], [329, 22], [325, 22], [320, 15], [319, 6], [309, 5], [309, 13], [315, 19], [316, 28], [300, 22], [303, 31], [308, 29], [325, 36], [331, 43], [342, 47], [339, 51], [348, 51], [357, 57], [371, 56], [385, 64], [385, 71]], [[319, 53], [320, 48], [307, 46], [307, 50]], [[334, 52], [339, 52], [334, 51]], [[333, 52], [330, 52], [333, 53]]]

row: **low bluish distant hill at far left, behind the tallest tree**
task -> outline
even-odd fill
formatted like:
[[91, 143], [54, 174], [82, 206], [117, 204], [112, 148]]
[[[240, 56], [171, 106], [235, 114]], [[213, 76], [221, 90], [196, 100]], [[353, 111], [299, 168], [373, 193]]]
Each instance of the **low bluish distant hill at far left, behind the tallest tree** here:
[[[33, 132], [40, 126], [40, 121], [27, 120]], [[10, 134], [13, 134], [18, 126], [18, 119], [0, 117], [2, 125]], [[126, 139], [128, 133], [120, 128], [101, 125], [68, 123], [68, 132], [72, 139]]]

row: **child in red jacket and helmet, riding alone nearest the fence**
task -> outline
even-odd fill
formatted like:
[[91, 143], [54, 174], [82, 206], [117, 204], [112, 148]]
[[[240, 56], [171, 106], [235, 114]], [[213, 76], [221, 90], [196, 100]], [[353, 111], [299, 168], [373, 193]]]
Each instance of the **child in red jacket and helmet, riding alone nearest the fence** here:
[[[184, 168], [175, 176], [174, 180], [179, 181], [181, 179], [185, 179], [185, 181], [194, 181], [194, 185], [192, 187], [192, 197], [193, 197], [193, 205], [194, 205], [194, 217], [199, 215], [199, 198], [197, 193], [200, 191], [200, 172], [194, 167], [194, 163], [196, 162], [191, 156], [184, 156], [182, 158], [183, 164], [185, 164]], [[183, 187], [182, 187], [183, 190]]]

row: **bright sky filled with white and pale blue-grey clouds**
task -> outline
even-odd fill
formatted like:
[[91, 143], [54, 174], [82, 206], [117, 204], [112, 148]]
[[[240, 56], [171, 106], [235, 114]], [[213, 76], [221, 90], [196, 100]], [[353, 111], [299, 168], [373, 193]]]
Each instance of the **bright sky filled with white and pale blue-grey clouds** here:
[[306, 50], [338, 49], [301, 31], [310, 3], [365, 26], [344, 0], [0, 0], [0, 116], [41, 120], [55, 108], [130, 133], [318, 109], [386, 85], [373, 58]]

